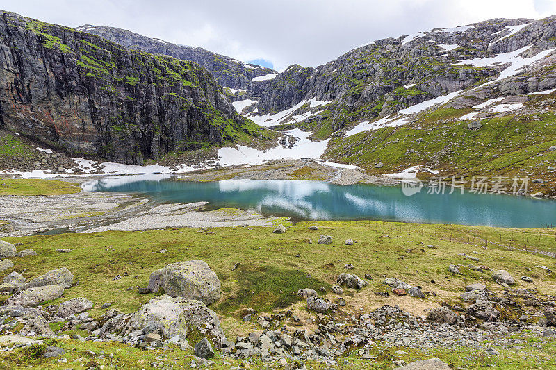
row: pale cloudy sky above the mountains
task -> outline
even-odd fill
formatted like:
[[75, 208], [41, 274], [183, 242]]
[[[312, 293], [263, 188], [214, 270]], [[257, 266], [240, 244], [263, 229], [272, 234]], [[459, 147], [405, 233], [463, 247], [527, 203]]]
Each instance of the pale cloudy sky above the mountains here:
[[317, 66], [383, 37], [556, 14], [556, 0], [2, 0], [66, 26], [115, 26], [275, 69]]

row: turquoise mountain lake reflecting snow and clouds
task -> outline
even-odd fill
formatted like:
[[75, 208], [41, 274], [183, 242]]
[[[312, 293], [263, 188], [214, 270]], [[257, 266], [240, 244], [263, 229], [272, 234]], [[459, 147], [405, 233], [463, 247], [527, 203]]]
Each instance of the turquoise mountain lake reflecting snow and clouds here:
[[170, 175], [115, 176], [82, 185], [85, 191], [133, 192], [163, 203], [207, 201], [210, 208], [242, 208], [301, 220], [412, 221], [477, 226], [556, 224], [556, 202], [471, 193], [404, 196], [401, 187], [332, 185], [302, 180], [182, 181]]

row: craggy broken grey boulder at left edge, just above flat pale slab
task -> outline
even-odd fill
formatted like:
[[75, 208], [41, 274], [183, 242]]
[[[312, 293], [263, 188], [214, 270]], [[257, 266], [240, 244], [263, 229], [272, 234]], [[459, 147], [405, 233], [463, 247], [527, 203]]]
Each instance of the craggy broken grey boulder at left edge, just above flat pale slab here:
[[11, 329], [13, 333], [20, 335], [54, 335], [47, 320], [44, 319], [41, 310], [37, 308], [22, 307], [19, 305], [4, 305], [0, 307], [0, 321], [17, 321], [19, 324], [15, 329]]

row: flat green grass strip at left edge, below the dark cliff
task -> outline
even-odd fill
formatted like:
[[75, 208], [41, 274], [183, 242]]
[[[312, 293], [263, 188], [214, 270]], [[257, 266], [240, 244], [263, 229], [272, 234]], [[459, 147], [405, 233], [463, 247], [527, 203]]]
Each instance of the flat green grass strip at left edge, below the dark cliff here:
[[81, 192], [81, 187], [67, 181], [0, 178], [0, 196], [2, 195], [63, 195]]

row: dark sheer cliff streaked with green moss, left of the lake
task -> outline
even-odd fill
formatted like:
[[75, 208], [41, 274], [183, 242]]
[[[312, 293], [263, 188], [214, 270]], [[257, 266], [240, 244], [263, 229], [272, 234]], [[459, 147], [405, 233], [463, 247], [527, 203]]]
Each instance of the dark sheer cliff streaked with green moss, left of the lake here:
[[0, 126], [142, 164], [253, 128], [206, 69], [0, 11]]

